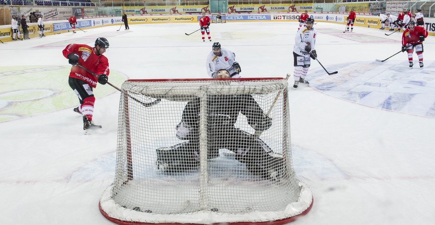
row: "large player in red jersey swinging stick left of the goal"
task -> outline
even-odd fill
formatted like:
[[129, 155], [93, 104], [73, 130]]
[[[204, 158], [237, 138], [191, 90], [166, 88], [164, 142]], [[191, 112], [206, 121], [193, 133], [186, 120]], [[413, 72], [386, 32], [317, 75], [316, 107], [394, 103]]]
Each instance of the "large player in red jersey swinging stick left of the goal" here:
[[[94, 113], [95, 97], [93, 88], [97, 87], [97, 82], [105, 85], [109, 75], [109, 61], [103, 54], [109, 48], [109, 41], [104, 37], [95, 40], [95, 46], [85, 44], [69, 44], [62, 51], [63, 56], [68, 59], [68, 63], [73, 65], [69, 74], [68, 83], [79, 98], [80, 106], [74, 109], [83, 115], [83, 129], [101, 128], [92, 121]], [[76, 64], [80, 64], [98, 77], [85, 71]]]

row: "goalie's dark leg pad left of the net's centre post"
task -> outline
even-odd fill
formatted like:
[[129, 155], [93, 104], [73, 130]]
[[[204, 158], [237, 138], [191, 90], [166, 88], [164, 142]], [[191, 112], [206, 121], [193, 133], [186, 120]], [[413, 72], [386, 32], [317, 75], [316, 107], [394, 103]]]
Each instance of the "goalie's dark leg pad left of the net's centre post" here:
[[157, 148], [155, 169], [158, 172], [177, 173], [198, 168], [198, 145], [186, 141], [171, 147]]

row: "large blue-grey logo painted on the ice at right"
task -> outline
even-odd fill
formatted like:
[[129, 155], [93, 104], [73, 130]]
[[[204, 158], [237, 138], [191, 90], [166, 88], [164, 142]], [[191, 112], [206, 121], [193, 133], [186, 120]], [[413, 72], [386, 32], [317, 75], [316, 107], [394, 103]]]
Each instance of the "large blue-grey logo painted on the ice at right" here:
[[[311, 71], [310, 86], [329, 96], [392, 112], [435, 118], [435, 61], [425, 61], [423, 70], [414, 67], [411, 73], [407, 61], [383, 63], [355, 62], [326, 67], [339, 71], [325, 77], [322, 68]], [[418, 104], [416, 104], [418, 103]]]

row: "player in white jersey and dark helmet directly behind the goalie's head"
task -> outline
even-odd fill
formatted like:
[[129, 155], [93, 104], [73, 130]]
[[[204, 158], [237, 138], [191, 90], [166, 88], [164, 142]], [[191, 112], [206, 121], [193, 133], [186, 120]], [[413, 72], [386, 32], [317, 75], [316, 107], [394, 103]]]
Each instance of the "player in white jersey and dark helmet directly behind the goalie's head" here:
[[207, 74], [212, 78], [216, 78], [217, 72], [220, 69], [226, 69], [230, 73], [231, 78], [239, 78], [242, 69], [236, 61], [236, 54], [230, 50], [222, 49], [219, 42], [214, 42], [212, 51], [207, 56]]

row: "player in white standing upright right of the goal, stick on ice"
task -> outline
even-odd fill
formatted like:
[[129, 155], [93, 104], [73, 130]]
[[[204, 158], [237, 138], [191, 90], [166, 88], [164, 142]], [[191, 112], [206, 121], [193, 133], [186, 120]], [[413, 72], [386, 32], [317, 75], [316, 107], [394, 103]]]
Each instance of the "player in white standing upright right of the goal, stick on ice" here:
[[305, 21], [306, 28], [297, 31], [294, 38], [293, 59], [294, 59], [294, 85], [297, 88], [299, 83], [309, 85], [305, 81], [306, 74], [308, 73], [311, 59], [317, 58], [316, 50], [314, 50], [316, 43], [316, 30], [314, 29], [314, 19], [307, 18]]

